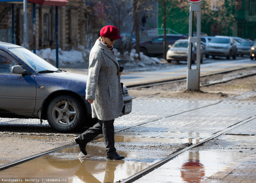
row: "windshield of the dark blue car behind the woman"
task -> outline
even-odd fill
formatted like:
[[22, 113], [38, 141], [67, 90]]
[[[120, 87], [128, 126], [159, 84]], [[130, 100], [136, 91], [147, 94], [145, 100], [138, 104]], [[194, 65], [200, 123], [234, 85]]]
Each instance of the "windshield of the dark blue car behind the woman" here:
[[58, 68], [54, 67], [52, 64], [48, 63], [41, 57], [29, 51], [28, 49], [9, 48], [9, 50], [37, 72], [46, 71], [46, 70], [48, 71], [58, 70]]

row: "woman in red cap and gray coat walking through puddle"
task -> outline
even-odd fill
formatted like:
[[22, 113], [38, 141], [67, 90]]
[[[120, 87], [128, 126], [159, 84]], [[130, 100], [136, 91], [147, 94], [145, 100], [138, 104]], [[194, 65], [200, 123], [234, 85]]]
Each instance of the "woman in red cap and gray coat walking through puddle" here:
[[124, 159], [124, 156], [117, 154], [114, 139], [114, 121], [123, 108], [121, 72], [113, 51], [113, 44], [119, 38], [116, 27], [105, 26], [100, 30], [100, 37], [91, 50], [86, 99], [92, 106], [92, 117], [98, 118], [98, 122], [75, 138], [81, 152], [87, 155], [87, 143], [103, 133], [106, 158], [115, 160]]

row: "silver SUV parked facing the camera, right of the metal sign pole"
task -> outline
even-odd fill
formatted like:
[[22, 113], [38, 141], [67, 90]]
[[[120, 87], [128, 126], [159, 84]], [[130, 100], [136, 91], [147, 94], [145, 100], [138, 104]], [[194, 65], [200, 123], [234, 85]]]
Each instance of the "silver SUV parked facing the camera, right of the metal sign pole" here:
[[232, 37], [229, 36], [215, 36], [212, 40], [205, 46], [205, 57], [209, 58], [215, 56], [225, 56], [228, 60], [232, 56], [236, 59], [237, 46]]

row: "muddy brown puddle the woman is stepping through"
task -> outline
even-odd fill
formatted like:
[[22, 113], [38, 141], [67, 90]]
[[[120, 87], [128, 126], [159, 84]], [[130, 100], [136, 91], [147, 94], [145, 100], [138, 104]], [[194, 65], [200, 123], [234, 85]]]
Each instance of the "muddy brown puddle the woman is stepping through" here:
[[105, 148], [88, 145], [87, 149], [95, 153], [78, 158], [80, 150], [77, 146], [72, 146], [3, 170], [0, 172], [0, 182], [2, 179], [30, 183], [48, 183], [54, 182], [53, 180], [68, 183], [117, 182], [150, 165], [145, 162], [106, 160]]

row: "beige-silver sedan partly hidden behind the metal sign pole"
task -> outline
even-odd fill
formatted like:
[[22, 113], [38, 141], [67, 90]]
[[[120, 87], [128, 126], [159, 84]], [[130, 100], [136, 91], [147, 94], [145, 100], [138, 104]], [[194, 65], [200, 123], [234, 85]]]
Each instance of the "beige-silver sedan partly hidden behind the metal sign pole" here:
[[[196, 44], [192, 44], [192, 57], [191, 63], [194, 64], [196, 61]], [[203, 47], [201, 46], [201, 60], [200, 62], [203, 63]], [[166, 53], [167, 62], [172, 62], [175, 60], [179, 61], [187, 61], [188, 60], [188, 40], [187, 39], [180, 39], [175, 41], [175, 43], [171, 46], [169, 45], [169, 50]]]

